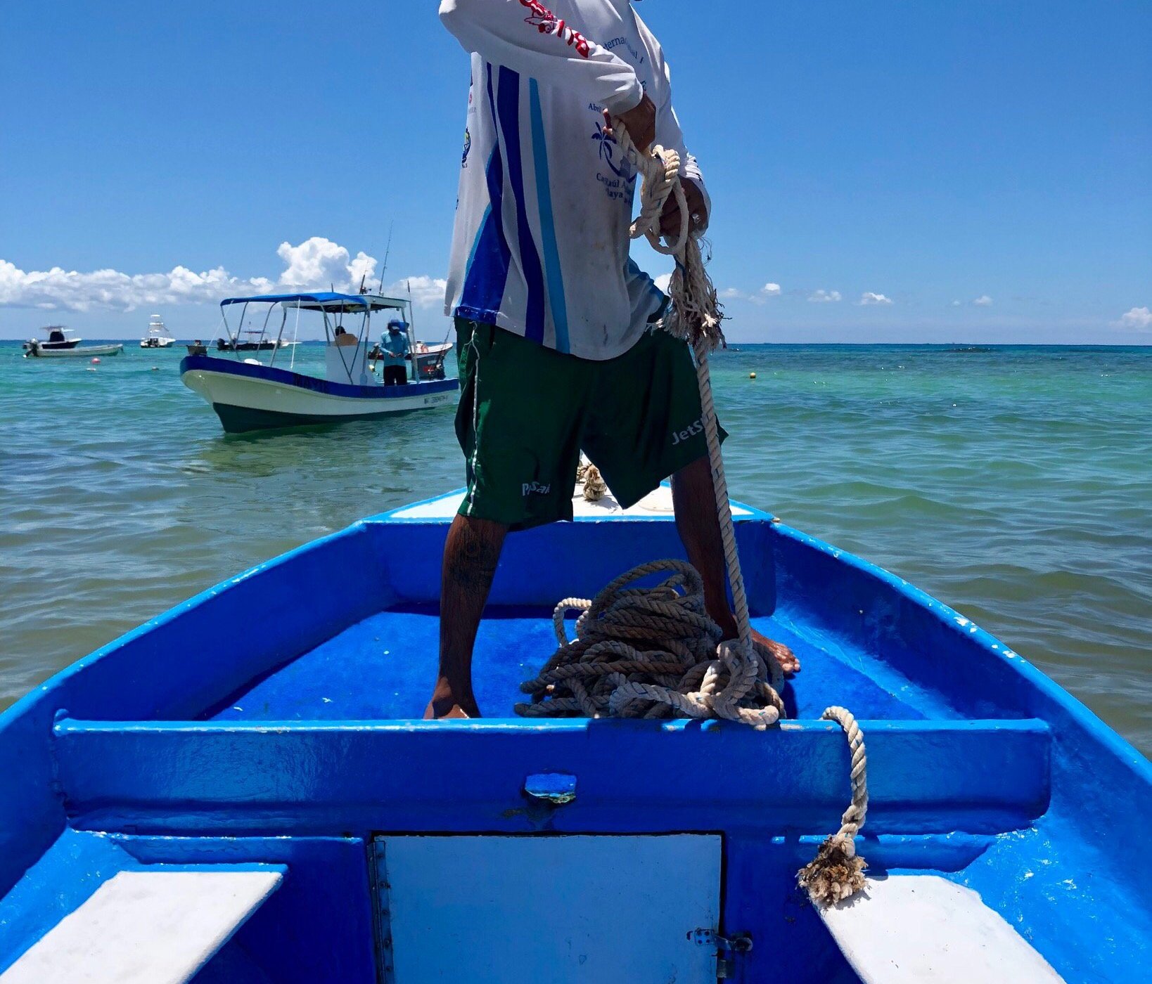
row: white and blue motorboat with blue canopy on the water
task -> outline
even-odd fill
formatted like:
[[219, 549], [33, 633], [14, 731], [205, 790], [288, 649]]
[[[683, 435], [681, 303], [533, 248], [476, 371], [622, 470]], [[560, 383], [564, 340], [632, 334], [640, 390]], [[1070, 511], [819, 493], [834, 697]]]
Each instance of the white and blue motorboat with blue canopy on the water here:
[[[228, 325], [228, 310], [241, 305], [240, 325], [250, 308], [264, 310], [263, 326], [253, 341], [241, 341], [242, 329]], [[267, 293], [229, 297], [220, 302], [233, 356], [188, 354], [180, 377], [204, 397], [228, 433], [369, 420], [394, 413], [427, 410], [455, 402], [460, 381], [418, 373], [407, 386], [382, 386], [369, 364], [372, 314], [396, 312], [411, 325], [411, 305], [403, 298], [370, 293]], [[279, 326], [274, 322], [278, 314]], [[325, 376], [296, 372], [296, 341], [301, 314], [320, 314], [325, 334]], [[349, 330], [349, 327], [351, 330]], [[244, 329], [247, 330], [247, 329]], [[291, 331], [291, 341], [286, 331]], [[407, 327], [409, 336], [411, 328]], [[410, 348], [415, 340], [409, 337]], [[286, 358], [283, 349], [290, 349]], [[267, 365], [244, 352], [270, 351]], [[276, 357], [281, 365], [276, 365]], [[440, 352], [442, 361], [444, 352]], [[283, 361], [288, 361], [285, 366]]]

